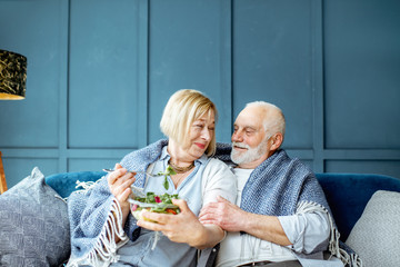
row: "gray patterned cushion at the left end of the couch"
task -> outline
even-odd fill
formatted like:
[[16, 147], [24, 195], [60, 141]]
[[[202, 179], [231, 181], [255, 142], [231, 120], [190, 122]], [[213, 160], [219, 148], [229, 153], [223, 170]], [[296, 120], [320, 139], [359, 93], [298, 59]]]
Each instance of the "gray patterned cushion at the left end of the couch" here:
[[34, 168], [0, 196], [0, 266], [59, 266], [70, 254], [67, 204]]

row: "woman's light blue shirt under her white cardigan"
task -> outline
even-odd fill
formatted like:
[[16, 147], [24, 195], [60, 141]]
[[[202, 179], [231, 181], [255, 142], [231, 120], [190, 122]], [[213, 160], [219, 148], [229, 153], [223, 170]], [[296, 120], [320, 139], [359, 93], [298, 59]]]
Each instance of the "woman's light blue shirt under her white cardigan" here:
[[[170, 155], [167, 147], [163, 147], [160, 158], [153, 164], [152, 174], [164, 171]], [[194, 170], [184, 178], [184, 180], [174, 188], [173, 181], [168, 177], [169, 189], [168, 194], [179, 194], [179, 197], [186, 199], [189, 208], [197, 216], [202, 207], [202, 184], [201, 178], [204, 167], [208, 162], [208, 157], [202, 156], [194, 161]], [[166, 192], [163, 187], [164, 177], [148, 178], [144, 191], [153, 191], [156, 194]], [[159, 240], [156, 248], [152, 250], [156, 233], [147, 229], [141, 229], [140, 237], [136, 241], [129, 240], [124, 246], [118, 250], [120, 259], [111, 266], [196, 266], [197, 249], [187, 244], [173, 243], [159, 233]]]

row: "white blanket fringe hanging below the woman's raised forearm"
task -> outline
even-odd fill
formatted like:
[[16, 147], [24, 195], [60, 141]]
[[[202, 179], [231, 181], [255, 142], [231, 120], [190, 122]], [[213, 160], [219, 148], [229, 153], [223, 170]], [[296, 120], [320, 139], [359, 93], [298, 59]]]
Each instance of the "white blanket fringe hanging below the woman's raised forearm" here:
[[[118, 244], [116, 243], [116, 237], [121, 239]], [[127, 244], [127, 241], [128, 236], [123, 231], [121, 209], [114, 199], [93, 249], [82, 258], [70, 259], [67, 266], [78, 267], [80, 264], [86, 264], [96, 267], [107, 267], [111, 263], [118, 261], [117, 250]]]

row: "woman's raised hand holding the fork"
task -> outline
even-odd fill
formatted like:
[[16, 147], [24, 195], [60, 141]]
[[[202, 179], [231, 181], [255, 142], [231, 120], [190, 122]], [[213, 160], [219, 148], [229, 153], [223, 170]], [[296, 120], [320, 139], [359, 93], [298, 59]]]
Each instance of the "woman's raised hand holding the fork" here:
[[117, 198], [121, 210], [122, 218], [127, 218], [130, 211], [130, 204], [128, 197], [131, 194], [130, 186], [134, 182], [134, 175], [127, 169], [122, 168], [121, 165], [116, 164], [114, 171], [110, 172], [107, 177], [108, 186], [111, 194]]

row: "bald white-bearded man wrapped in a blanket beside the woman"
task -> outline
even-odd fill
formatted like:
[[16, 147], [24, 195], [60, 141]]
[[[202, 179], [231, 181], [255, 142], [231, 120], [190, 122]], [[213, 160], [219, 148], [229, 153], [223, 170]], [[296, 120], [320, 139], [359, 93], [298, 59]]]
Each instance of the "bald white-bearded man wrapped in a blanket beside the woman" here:
[[[280, 149], [284, 129], [278, 107], [251, 102], [234, 121], [232, 146], [220, 145], [217, 151], [221, 159], [230, 152], [238, 179], [236, 205], [220, 197], [200, 212], [202, 222], [228, 231], [217, 267], [343, 266], [339, 258], [351, 264], [339, 248], [339, 234], [314, 174]], [[328, 248], [339, 258], [324, 260]]]

